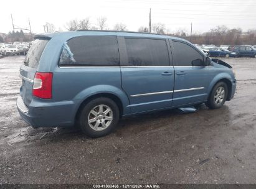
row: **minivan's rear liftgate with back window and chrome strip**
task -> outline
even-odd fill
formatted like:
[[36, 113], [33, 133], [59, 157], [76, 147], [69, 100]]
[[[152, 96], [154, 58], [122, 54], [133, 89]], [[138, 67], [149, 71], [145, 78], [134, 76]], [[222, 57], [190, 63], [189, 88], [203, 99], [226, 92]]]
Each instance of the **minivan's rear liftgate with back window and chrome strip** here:
[[34, 76], [39, 65], [40, 57], [48, 41], [45, 39], [36, 39], [29, 52], [27, 52], [24, 64], [19, 69], [19, 76], [22, 79], [20, 94], [27, 106], [29, 106], [32, 100]]

